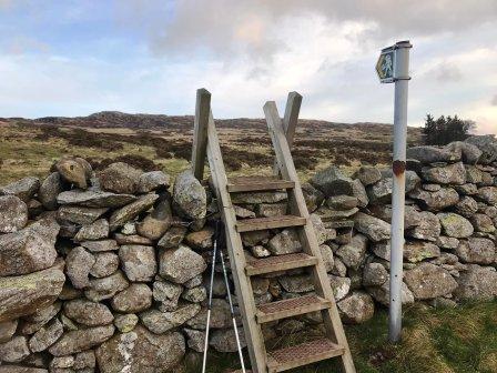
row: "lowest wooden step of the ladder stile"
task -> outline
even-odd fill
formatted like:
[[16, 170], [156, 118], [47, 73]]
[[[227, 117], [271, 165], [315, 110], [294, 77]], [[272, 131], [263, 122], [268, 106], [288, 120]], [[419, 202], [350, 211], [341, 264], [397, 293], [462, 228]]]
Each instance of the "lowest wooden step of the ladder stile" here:
[[343, 355], [345, 349], [328, 339], [297, 344], [267, 354], [267, 371], [276, 373]]

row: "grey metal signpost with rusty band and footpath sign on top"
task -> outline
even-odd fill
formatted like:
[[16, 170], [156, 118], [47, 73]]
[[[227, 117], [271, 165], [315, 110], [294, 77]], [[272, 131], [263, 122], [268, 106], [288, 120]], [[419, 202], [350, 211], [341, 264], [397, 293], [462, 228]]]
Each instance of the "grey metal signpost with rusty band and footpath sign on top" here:
[[[392, 163], [390, 299], [388, 319], [388, 337], [394, 343], [400, 341], [402, 334], [407, 91], [410, 79], [409, 49], [412, 47], [408, 41], [400, 41], [383, 50], [376, 67], [382, 82], [395, 82], [394, 161]], [[390, 64], [388, 64], [388, 60], [390, 60]], [[392, 68], [392, 72], [389, 70], [385, 71], [385, 68], [388, 67]]]

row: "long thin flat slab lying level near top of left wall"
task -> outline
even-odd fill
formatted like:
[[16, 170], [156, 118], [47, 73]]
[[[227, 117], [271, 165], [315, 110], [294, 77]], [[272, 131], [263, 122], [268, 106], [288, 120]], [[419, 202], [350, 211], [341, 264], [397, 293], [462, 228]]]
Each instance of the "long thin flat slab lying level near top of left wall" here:
[[57, 196], [59, 204], [78, 204], [84, 208], [121, 208], [136, 201], [136, 196], [131, 194], [115, 194], [103, 191], [71, 190], [60, 193]]

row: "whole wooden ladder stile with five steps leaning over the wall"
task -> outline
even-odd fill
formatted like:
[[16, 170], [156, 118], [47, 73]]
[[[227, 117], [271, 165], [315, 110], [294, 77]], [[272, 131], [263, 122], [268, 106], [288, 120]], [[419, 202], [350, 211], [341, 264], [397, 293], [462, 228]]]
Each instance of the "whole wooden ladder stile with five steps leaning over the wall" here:
[[[284, 124], [278, 115], [276, 104], [273, 101], [268, 101], [264, 105], [267, 127], [276, 153], [276, 175], [267, 178], [246, 177], [227, 179], [214, 119], [210, 109], [211, 94], [204, 89], [199, 90], [196, 97], [192, 167], [195, 177], [202, 179], [205, 155], [207, 157], [211, 170], [211, 182], [214, 186], [226, 231], [226, 245], [252, 372], [283, 372], [322, 360], [336, 357], [339, 359], [345, 373], [353, 373], [355, 372], [355, 367], [352, 354], [290, 152], [288, 143], [293, 140], [293, 131], [298, 117], [301, 102], [298, 98], [302, 99], [297, 93], [292, 92], [286, 107], [285, 125], [287, 133], [292, 135], [290, 139], [287, 139], [284, 132]], [[291, 129], [292, 125], [293, 130]], [[272, 190], [286, 190], [290, 208], [288, 215], [245, 220], [236, 219], [231, 193]], [[270, 256], [250, 262], [245, 260], [241, 238], [242, 233], [291, 226], [295, 228], [298, 233], [303, 252]], [[301, 268], [307, 268], [310, 270], [315, 288], [315, 295], [306, 295], [261, 305], [255, 304], [251, 276]], [[326, 330], [325, 337], [281, 350], [266, 350], [261, 330], [262, 324], [315, 311], [321, 311], [323, 316]]]

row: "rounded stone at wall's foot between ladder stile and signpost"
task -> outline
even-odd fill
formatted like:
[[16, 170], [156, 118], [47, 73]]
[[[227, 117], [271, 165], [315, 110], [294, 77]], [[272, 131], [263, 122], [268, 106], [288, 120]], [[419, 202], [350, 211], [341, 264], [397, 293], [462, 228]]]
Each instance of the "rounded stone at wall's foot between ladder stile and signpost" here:
[[361, 324], [371, 320], [375, 313], [373, 298], [365, 292], [353, 292], [337, 304], [346, 323]]

